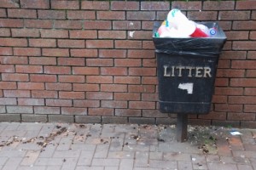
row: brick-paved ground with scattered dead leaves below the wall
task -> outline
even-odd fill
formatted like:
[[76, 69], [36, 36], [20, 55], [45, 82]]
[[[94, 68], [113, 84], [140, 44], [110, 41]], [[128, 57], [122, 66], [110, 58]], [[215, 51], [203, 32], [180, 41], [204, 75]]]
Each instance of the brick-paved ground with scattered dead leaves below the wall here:
[[[256, 170], [256, 130], [0, 122], [0, 169]], [[237, 130], [237, 129], [236, 129]]]

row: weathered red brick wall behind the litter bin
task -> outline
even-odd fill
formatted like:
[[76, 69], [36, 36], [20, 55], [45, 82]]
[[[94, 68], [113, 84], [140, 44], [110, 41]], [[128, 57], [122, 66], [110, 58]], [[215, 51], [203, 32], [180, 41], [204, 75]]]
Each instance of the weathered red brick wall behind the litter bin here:
[[256, 127], [256, 1], [0, 0], [0, 121], [174, 123], [152, 42], [172, 8], [228, 37], [212, 111], [189, 122]]

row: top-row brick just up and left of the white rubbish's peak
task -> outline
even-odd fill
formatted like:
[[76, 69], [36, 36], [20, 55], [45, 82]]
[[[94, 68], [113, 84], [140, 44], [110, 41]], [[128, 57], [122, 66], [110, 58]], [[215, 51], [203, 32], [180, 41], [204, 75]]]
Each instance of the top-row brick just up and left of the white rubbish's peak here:
[[141, 2], [141, 10], [170, 10], [169, 2]]

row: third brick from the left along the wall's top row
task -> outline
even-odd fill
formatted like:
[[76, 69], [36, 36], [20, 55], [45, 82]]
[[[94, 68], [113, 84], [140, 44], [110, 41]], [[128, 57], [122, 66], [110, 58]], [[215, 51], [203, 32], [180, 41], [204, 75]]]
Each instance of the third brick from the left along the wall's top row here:
[[54, 8], [54, 9], [79, 9], [79, 1], [51, 0], [51, 8]]

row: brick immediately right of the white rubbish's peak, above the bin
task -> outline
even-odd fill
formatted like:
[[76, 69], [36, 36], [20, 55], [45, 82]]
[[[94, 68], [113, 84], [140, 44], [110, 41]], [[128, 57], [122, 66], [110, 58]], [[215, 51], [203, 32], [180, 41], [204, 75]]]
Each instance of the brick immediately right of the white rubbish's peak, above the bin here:
[[217, 11], [189, 11], [189, 20], [217, 20]]

